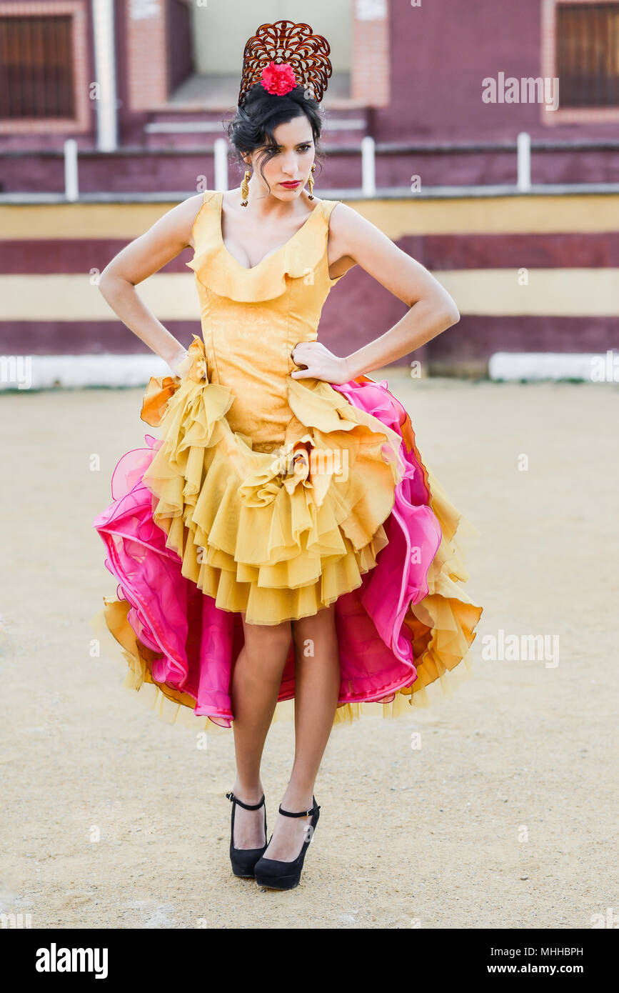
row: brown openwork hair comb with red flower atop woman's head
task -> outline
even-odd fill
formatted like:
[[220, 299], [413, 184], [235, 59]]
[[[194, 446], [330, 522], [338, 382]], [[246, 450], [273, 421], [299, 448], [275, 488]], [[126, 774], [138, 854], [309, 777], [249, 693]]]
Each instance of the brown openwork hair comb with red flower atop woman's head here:
[[256, 82], [279, 96], [302, 85], [319, 102], [332, 72], [330, 51], [326, 39], [314, 35], [309, 24], [261, 24], [245, 44], [239, 106]]

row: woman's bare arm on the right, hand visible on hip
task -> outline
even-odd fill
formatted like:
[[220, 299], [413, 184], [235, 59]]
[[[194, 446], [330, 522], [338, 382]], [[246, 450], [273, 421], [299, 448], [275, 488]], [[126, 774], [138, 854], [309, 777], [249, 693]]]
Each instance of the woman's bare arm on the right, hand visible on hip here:
[[307, 368], [293, 372], [294, 378], [315, 376], [327, 382], [347, 382], [414, 352], [459, 321], [454, 301], [432, 273], [345, 204], [338, 204], [330, 214], [331, 254], [337, 260], [331, 267], [338, 275], [358, 263], [410, 310], [380, 338], [345, 358], [332, 355], [318, 342], [301, 342], [293, 350], [293, 358]]

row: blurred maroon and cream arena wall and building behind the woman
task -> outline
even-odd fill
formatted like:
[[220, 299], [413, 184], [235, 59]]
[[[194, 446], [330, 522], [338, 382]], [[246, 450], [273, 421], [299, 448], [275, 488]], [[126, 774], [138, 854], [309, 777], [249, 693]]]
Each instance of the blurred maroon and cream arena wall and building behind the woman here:
[[[602, 362], [619, 378], [610, 0], [0, 0], [0, 354], [28, 342], [33, 385], [147, 381], [160, 360], [97, 274], [187, 196], [239, 184], [223, 122], [247, 38], [282, 18], [331, 46], [316, 196], [368, 216], [459, 307], [421, 374], [577, 379]], [[184, 345], [190, 255], [139, 291]], [[405, 310], [356, 267], [320, 340], [347, 354]]]

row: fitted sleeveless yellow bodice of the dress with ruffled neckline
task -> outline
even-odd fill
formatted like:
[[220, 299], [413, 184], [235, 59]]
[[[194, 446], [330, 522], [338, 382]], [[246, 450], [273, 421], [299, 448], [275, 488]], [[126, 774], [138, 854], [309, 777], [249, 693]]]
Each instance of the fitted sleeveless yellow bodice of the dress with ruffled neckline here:
[[230, 387], [233, 430], [255, 447], [284, 438], [291, 419], [290, 373], [299, 342], [316, 340], [322, 305], [341, 279], [328, 274], [328, 218], [336, 200], [321, 200], [302, 226], [258, 265], [247, 268], [226, 248], [223, 194], [206, 190], [193, 223], [193, 269], [210, 382]]

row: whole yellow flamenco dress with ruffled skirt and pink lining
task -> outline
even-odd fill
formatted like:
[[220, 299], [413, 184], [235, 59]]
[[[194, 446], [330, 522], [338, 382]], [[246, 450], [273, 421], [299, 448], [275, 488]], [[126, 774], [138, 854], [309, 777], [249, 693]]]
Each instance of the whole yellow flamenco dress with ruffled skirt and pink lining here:
[[[337, 203], [319, 201], [248, 269], [223, 242], [222, 194], [204, 193], [186, 263], [202, 337], [179, 376], [151, 378], [142, 418], [159, 438], [121, 458], [113, 502], [93, 521], [119, 581], [93, 627], [122, 645], [126, 685], [150, 685], [173, 721], [192, 711], [201, 726], [231, 726], [241, 614], [276, 625], [336, 604], [334, 723], [427, 705], [426, 686], [440, 678], [450, 692], [447, 674], [469, 668], [481, 608], [456, 587], [467, 579], [454, 540], [462, 518], [424, 466], [408, 414], [386, 381], [290, 374], [342, 278], [327, 260]], [[291, 643], [276, 720], [294, 677]]]

